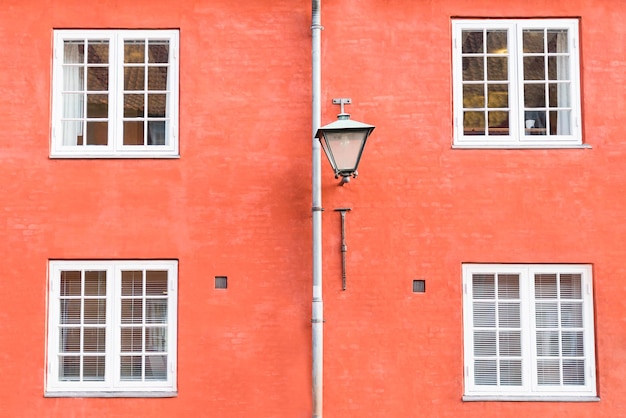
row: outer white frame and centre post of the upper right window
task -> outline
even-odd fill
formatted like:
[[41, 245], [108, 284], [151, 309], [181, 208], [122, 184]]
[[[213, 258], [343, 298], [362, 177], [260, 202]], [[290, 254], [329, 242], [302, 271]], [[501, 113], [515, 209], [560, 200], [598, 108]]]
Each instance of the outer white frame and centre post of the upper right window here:
[[[506, 30], [508, 33], [509, 134], [465, 135], [463, 127], [462, 31]], [[526, 135], [522, 31], [563, 29], [568, 31], [571, 76], [570, 135]], [[582, 142], [579, 29], [577, 19], [452, 20], [452, 80], [454, 148], [587, 148]], [[499, 84], [496, 82], [496, 84]], [[505, 83], [506, 84], [506, 83]]]

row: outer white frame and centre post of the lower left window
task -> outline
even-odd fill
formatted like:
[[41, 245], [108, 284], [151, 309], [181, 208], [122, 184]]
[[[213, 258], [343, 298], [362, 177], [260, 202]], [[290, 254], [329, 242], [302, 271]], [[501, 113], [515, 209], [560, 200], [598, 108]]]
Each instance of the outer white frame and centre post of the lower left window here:
[[[106, 271], [105, 375], [102, 381], [63, 381], [59, 375], [60, 278], [62, 271]], [[120, 378], [121, 274], [128, 270], [167, 271], [167, 365], [165, 380], [128, 381]], [[50, 397], [170, 397], [177, 390], [177, 260], [102, 260], [49, 262], [46, 396]], [[85, 300], [82, 296], [81, 300]], [[145, 326], [145, 325], [144, 325]], [[146, 351], [148, 353], [148, 351]]]

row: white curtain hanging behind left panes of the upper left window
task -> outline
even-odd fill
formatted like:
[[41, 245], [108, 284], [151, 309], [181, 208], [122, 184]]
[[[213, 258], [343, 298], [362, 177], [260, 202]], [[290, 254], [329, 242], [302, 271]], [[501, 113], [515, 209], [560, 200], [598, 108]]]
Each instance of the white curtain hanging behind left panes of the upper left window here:
[[[64, 64], [82, 64], [79, 47], [83, 45], [82, 42], [65, 42], [63, 45]], [[78, 137], [83, 136], [83, 69], [82, 65], [63, 66], [63, 145], [78, 145]]]

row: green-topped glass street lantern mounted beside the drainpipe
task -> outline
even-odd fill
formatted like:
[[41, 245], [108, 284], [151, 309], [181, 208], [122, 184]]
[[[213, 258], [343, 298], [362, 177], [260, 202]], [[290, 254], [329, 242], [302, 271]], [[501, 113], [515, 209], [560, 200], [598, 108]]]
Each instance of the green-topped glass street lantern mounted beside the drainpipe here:
[[336, 121], [319, 128], [315, 137], [322, 144], [335, 178], [341, 176], [340, 184], [343, 186], [350, 181], [350, 176], [356, 178], [358, 175], [363, 148], [374, 126], [351, 120], [350, 115], [344, 112], [343, 106], [352, 103], [351, 99], [333, 99], [333, 103], [341, 105], [341, 113]]

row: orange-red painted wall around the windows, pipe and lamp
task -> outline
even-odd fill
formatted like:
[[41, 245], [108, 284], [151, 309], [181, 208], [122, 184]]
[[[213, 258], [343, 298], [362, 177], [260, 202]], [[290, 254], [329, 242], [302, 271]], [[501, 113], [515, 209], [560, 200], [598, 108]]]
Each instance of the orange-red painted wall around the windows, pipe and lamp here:
[[[310, 416], [310, 8], [2, 2], [0, 416]], [[452, 149], [454, 16], [580, 17], [591, 149]], [[617, 0], [323, 0], [323, 123], [351, 97], [376, 125], [357, 180], [322, 166], [325, 416], [626, 415], [625, 19]], [[55, 28], [180, 29], [180, 159], [49, 158]], [[48, 260], [111, 258], [179, 260], [178, 396], [44, 398]], [[593, 265], [600, 402], [462, 402], [471, 261]]]

